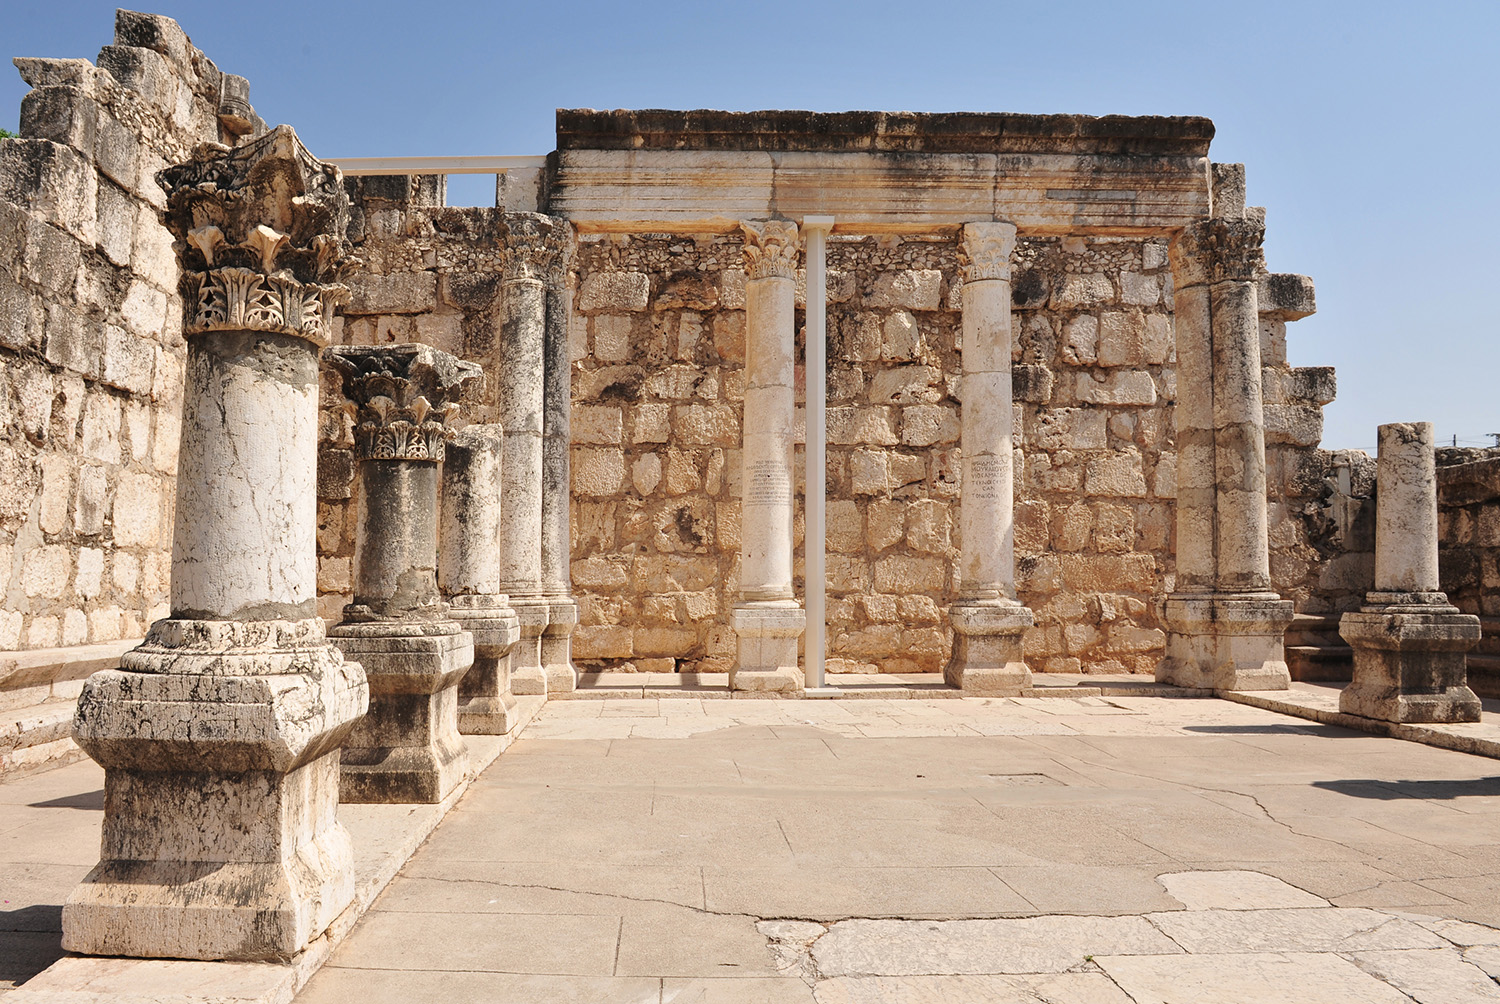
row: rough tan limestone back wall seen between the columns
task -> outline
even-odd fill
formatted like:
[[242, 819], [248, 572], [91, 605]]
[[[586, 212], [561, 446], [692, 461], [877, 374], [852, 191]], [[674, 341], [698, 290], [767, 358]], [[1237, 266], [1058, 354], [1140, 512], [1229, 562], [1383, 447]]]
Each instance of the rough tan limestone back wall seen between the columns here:
[[[342, 339], [428, 341], [494, 374], [495, 210], [440, 209], [434, 182], [362, 179]], [[828, 537], [834, 669], [936, 671], [958, 549], [956, 239], [830, 243]], [[584, 666], [728, 668], [738, 590], [744, 272], [738, 236], [584, 234], [573, 257], [574, 657]], [[1286, 363], [1305, 281], [1263, 284], [1276, 585], [1317, 603], [1322, 405], [1332, 372]], [[1022, 239], [1016, 269], [1022, 600], [1035, 668], [1149, 672], [1173, 575], [1166, 240]], [[798, 324], [801, 324], [798, 294]], [[798, 342], [801, 348], [801, 339]], [[330, 377], [330, 380], [333, 380]], [[801, 369], [798, 371], [801, 380]], [[321, 611], [352, 560], [346, 419], [326, 389]], [[468, 420], [492, 417], [495, 381]], [[798, 450], [801, 465], [801, 450]], [[1317, 471], [1312, 476], [1311, 471]], [[798, 480], [801, 497], [801, 480]], [[801, 570], [801, 498], [796, 516]], [[801, 582], [798, 582], [801, 588]]]

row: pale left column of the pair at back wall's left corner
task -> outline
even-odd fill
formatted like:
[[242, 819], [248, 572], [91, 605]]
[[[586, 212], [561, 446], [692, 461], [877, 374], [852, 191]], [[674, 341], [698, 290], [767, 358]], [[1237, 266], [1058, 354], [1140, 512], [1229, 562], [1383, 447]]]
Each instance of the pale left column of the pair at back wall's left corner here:
[[546, 468], [546, 278], [562, 251], [562, 228], [538, 213], [506, 213], [501, 242], [500, 423], [506, 431], [501, 495], [506, 527], [501, 534], [501, 591], [520, 620], [520, 641], [512, 663], [514, 693], [546, 693], [542, 636], [550, 621], [552, 600], [542, 575], [546, 521], [543, 480]]

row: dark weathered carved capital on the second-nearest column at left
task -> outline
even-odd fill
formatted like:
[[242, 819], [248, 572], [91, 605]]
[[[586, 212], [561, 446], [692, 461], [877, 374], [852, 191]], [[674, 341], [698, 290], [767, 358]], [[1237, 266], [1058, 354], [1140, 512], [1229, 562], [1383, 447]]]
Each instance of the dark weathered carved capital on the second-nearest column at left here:
[[441, 462], [459, 398], [484, 380], [478, 363], [422, 344], [338, 345], [322, 357], [344, 374], [362, 461]]

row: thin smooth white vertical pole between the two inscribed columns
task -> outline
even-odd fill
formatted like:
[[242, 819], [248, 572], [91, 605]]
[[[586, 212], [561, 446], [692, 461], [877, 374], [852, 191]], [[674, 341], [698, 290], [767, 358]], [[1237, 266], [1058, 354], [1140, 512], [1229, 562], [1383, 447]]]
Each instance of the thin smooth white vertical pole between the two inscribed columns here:
[[807, 608], [806, 666], [808, 690], [824, 689], [828, 635], [828, 231], [832, 216], [804, 216], [807, 240], [807, 461], [804, 536], [804, 606]]

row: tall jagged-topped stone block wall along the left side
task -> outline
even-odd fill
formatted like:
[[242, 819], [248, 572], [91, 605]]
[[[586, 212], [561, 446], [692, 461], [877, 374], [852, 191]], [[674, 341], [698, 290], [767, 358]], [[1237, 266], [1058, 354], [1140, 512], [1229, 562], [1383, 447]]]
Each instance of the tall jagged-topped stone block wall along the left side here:
[[165, 615], [184, 345], [156, 171], [260, 128], [243, 78], [120, 11], [98, 63], [18, 59], [0, 141], [0, 650]]

